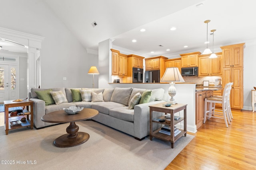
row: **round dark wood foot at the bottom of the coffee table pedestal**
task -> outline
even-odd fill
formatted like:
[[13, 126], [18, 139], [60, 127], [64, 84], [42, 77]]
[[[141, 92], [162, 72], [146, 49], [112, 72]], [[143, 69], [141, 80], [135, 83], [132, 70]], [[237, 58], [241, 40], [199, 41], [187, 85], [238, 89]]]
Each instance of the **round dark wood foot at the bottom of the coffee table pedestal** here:
[[61, 148], [74, 147], [85, 143], [90, 138], [90, 135], [85, 132], [77, 132], [77, 136], [72, 138], [68, 137], [68, 135], [70, 134], [65, 134], [55, 139], [54, 145]]

